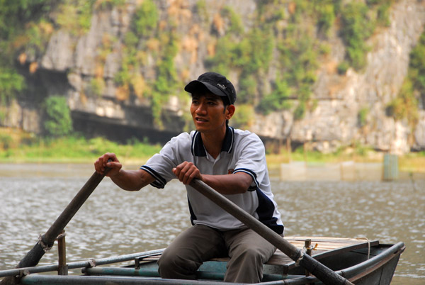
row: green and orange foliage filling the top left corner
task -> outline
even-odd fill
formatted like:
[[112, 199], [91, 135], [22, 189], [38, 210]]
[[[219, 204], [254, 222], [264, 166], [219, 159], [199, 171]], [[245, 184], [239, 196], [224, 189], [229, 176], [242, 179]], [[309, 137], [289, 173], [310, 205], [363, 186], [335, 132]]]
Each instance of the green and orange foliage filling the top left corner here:
[[16, 59], [21, 65], [39, 59], [54, 30], [84, 35], [94, 9], [123, 4], [125, 0], [0, 0], [0, 104], [26, 90]]

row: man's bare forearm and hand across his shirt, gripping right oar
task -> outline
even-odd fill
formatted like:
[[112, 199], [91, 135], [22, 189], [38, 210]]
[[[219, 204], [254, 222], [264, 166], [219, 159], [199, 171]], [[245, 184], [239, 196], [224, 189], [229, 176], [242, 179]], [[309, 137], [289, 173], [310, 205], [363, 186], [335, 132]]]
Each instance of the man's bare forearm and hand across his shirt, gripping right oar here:
[[245, 193], [252, 183], [251, 175], [244, 172], [224, 175], [200, 174], [198, 167], [192, 162], [179, 164], [173, 172], [183, 184], [190, 184], [192, 179], [197, 178], [221, 194]]

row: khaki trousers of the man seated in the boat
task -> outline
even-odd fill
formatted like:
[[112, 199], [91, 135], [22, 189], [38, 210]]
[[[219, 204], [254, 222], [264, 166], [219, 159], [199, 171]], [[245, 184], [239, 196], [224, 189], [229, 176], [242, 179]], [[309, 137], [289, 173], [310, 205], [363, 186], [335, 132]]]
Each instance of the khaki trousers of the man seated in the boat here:
[[212, 257], [230, 257], [226, 282], [258, 283], [263, 264], [276, 247], [251, 229], [222, 232], [206, 225], [184, 230], [164, 250], [158, 261], [159, 275], [171, 279], [196, 279], [196, 270]]

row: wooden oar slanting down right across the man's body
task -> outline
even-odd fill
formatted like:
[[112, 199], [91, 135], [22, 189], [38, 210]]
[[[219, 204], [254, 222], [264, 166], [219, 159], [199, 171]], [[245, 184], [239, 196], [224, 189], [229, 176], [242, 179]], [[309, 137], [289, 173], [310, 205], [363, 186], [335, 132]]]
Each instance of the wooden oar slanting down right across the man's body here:
[[246, 211], [242, 210], [242, 208], [239, 208], [239, 206], [237, 206], [232, 201], [229, 201], [229, 199], [212, 189], [203, 181], [200, 181], [199, 179], [193, 179], [190, 185], [208, 199], [210, 199], [212, 202], [216, 203], [218, 206], [227, 211], [227, 213], [231, 214], [249, 228], [254, 230], [256, 233], [261, 235], [261, 237], [270, 242], [272, 245], [276, 246], [279, 250], [285, 253], [285, 255], [288, 255], [290, 259], [298, 262], [300, 266], [307, 269], [324, 284], [352, 284], [343, 276], [336, 274], [334, 271], [328, 267], [325, 267], [324, 264], [318, 262], [316, 259], [310, 257], [309, 255], [304, 255], [302, 250], [298, 250], [297, 247], [290, 244], [290, 242], [282, 238], [280, 235], [275, 233], [273, 230], [268, 228], [253, 216], [249, 215], [249, 213], [246, 213]]

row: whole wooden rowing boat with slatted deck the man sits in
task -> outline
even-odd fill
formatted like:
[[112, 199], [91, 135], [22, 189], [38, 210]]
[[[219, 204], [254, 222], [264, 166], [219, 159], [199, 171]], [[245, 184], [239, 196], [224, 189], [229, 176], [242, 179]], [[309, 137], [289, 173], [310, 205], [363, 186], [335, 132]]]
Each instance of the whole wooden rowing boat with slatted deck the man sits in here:
[[[312, 257], [353, 284], [390, 284], [404, 243], [381, 244], [365, 238], [286, 237], [285, 240], [305, 250]], [[58, 264], [26, 267], [0, 271], [2, 276], [19, 276], [21, 284], [225, 284], [223, 277], [228, 258], [211, 259], [198, 269], [197, 280], [161, 279], [157, 260], [162, 250], [133, 253], [119, 257], [91, 259], [66, 264], [67, 271], [81, 268], [81, 273], [54, 275], [60, 271]], [[47, 272], [47, 274], [40, 274]], [[50, 274], [49, 274], [50, 272]], [[297, 266], [280, 250], [263, 266], [262, 284], [322, 284], [305, 269]]]

